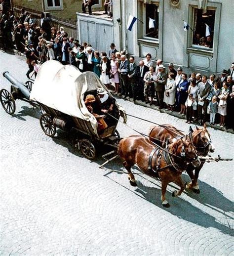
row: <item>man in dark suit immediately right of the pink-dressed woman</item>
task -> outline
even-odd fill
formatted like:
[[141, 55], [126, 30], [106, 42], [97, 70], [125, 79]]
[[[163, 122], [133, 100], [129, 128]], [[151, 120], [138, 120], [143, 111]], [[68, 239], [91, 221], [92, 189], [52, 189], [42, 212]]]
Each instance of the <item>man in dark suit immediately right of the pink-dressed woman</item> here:
[[126, 59], [125, 55], [121, 55], [121, 62], [119, 65], [118, 73], [120, 76], [121, 85], [121, 96], [127, 96], [127, 83], [128, 83], [128, 73], [129, 73], [129, 61]]

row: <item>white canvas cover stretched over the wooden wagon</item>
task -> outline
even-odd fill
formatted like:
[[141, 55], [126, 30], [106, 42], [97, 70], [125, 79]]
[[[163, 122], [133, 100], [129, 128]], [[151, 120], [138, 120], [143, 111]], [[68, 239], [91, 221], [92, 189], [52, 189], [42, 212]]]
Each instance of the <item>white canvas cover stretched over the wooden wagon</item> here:
[[97, 121], [85, 107], [83, 97], [86, 91], [100, 87], [107, 90], [93, 72], [81, 73], [73, 65], [64, 66], [56, 60], [49, 60], [39, 69], [30, 100], [89, 121], [97, 134]]

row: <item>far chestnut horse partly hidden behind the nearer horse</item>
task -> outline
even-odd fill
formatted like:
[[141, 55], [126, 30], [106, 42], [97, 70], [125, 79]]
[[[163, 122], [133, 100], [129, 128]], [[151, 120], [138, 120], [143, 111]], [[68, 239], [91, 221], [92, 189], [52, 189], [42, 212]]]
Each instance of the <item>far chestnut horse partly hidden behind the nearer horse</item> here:
[[[205, 157], [209, 152], [215, 151], [205, 124], [203, 128], [196, 127], [195, 130], [190, 127], [190, 132], [192, 133], [193, 143], [198, 156]], [[164, 148], [166, 146], [166, 141], [168, 143], [173, 143], [185, 135], [172, 125], [162, 125], [152, 127], [149, 136], [151, 141]], [[204, 163], [205, 161], [201, 160], [201, 164], [198, 167], [194, 167], [190, 164], [186, 168], [186, 171], [191, 178], [191, 182], [186, 184], [186, 188], [192, 189], [196, 194], [200, 193], [197, 180], [199, 171]]]

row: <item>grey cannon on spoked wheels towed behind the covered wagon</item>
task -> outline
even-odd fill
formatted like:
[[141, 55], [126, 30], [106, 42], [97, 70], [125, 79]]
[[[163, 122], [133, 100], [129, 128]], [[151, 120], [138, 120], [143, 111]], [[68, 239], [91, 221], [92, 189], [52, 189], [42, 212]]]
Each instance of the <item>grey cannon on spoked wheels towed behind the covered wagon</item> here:
[[28, 80], [26, 83], [19, 82], [8, 71], [2, 73], [10, 83], [10, 92], [6, 89], [0, 90], [0, 101], [3, 109], [6, 113], [13, 115], [15, 113], [15, 100], [21, 99], [32, 105], [34, 103], [30, 101], [30, 91], [32, 89], [33, 80]]

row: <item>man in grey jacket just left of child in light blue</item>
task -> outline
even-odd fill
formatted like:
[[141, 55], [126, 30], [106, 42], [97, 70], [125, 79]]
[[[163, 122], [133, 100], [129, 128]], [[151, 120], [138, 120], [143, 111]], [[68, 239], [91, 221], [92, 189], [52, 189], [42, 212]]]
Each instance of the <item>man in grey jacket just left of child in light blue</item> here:
[[[198, 89], [198, 92], [197, 92], [197, 97], [198, 97], [197, 121], [200, 121], [200, 125], [203, 125], [207, 120], [207, 107], [209, 105], [208, 96], [211, 90], [211, 85], [207, 82], [207, 80], [208, 80], [207, 76], [202, 76], [201, 82], [203, 84], [203, 89], [202, 91]], [[202, 110], [204, 112], [203, 118], [202, 118]], [[202, 123], [202, 120], [203, 120], [203, 123]]]

